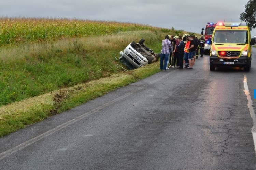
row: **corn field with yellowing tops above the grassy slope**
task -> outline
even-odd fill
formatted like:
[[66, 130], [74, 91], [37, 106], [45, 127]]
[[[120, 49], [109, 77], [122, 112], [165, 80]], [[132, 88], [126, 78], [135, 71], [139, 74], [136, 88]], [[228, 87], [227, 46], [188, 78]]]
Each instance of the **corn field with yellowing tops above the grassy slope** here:
[[0, 46], [61, 38], [99, 36], [157, 28], [122, 22], [51, 18], [0, 18]]

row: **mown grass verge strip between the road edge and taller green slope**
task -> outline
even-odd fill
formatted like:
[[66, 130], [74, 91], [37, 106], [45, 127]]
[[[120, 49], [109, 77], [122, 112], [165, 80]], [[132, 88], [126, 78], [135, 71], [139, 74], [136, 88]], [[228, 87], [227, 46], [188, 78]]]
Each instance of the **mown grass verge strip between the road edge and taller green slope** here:
[[0, 107], [0, 137], [159, 71], [159, 63]]

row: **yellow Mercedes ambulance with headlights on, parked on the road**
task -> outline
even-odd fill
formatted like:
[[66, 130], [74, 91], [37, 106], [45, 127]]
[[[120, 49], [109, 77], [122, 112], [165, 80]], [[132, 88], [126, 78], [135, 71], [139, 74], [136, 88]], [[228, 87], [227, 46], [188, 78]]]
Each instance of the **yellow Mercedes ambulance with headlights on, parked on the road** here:
[[252, 45], [250, 28], [245, 22], [219, 22], [213, 30], [210, 52], [210, 70], [216, 67], [241, 67], [250, 71], [252, 62]]

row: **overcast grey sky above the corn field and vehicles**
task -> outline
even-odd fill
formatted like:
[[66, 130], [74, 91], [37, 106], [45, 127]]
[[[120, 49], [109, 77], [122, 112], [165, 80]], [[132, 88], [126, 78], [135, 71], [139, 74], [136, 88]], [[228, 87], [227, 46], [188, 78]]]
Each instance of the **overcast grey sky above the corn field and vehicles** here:
[[[207, 22], [240, 21], [248, 0], [1, 0], [2, 17], [79, 18], [201, 32]], [[252, 36], [256, 35], [256, 29]]]

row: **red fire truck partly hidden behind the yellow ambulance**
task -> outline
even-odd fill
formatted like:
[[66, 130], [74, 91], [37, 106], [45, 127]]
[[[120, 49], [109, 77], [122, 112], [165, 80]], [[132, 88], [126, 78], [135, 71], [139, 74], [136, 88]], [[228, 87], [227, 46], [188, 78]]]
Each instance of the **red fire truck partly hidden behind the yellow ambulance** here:
[[204, 45], [204, 54], [205, 55], [210, 54], [211, 45], [209, 44], [207, 39], [212, 38], [212, 33], [213, 33], [213, 30], [215, 27], [216, 27], [216, 23], [208, 22], [205, 27], [205, 33], [203, 33], [204, 28], [202, 28], [202, 35], [204, 35], [204, 39], [205, 39], [205, 45]]

